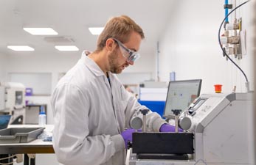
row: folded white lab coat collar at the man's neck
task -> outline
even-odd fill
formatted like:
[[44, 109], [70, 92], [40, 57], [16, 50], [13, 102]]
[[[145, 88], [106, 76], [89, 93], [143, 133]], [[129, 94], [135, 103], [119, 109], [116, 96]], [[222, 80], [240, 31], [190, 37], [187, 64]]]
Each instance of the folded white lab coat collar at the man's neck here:
[[105, 76], [103, 70], [100, 69], [100, 67], [96, 64], [96, 62], [94, 62], [94, 60], [86, 56], [84, 51], [80, 60], [83, 62], [84, 65], [86, 65], [86, 67], [88, 67], [89, 70], [91, 70], [92, 73], [94, 73], [95, 76]]

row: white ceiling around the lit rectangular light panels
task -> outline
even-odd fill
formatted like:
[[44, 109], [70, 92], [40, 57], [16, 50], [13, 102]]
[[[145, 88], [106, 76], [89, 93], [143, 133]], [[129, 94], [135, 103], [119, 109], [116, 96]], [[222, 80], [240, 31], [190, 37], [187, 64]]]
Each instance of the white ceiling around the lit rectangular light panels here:
[[[104, 26], [113, 16], [128, 15], [145, 32], [140, 53], [152, 54], [156, 52], [156, 43], [165, 30], [172, 7], [172, 0], [1, 0], [0, 53], [12, 56], [67, 54], [55, 50], [55, 45], [76, 45], [80, 51], [94, 51], [97, 36], [91, 35], [88, 27]], [[58, 32], [57, 37], [74, 42], [49, 42], [45, 36], [25, 32], [24, 27], [51, 27]], [[35, 51], [12, 51], [7, 45], [30, 45]]]

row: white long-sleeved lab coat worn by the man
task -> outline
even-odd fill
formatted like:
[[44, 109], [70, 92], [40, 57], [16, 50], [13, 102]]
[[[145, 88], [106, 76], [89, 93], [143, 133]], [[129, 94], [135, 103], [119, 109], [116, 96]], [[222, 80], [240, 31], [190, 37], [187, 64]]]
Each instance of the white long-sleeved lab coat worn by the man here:
[[[130, 128], [141, 106], [117, 76], [105, 76], [88, 56], [58, 82], [52, 95], [55, 128], [53, 147], [65, 165], [125, 164], [125, 143], [120, 133]], [[147, 115], [148, 131], [165, 123], [156, 113]]]

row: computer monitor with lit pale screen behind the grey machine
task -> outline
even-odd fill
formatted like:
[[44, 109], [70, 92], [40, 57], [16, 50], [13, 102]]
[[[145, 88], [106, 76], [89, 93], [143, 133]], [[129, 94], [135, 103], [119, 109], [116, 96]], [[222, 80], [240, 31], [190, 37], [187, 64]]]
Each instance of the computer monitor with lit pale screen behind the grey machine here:
[[201, 79], [170, 81], [163, 117], [174, 118], [173, 109], [184, 111], [200, 95]]

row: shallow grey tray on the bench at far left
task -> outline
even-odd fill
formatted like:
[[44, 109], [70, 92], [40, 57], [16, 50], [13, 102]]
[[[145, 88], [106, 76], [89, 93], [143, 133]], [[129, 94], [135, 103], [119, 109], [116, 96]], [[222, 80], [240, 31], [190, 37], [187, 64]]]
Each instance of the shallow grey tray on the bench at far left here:
[[0, 130], [0, 144], [27, 143], [35, 140], [44, 128], [6, 128]]

